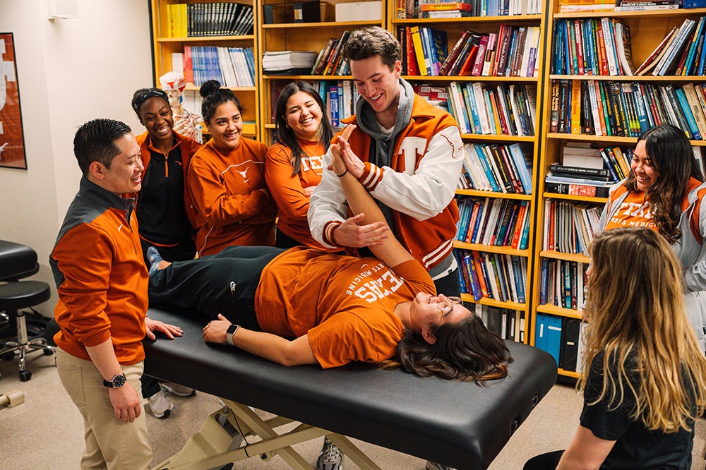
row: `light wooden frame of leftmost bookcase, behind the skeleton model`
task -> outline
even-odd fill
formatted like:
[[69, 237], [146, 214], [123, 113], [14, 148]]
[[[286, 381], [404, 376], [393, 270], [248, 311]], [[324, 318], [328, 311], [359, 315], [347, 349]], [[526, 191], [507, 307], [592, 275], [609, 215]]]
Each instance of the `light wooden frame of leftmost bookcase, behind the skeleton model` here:
[[[174, 32], [170, 33], [170, 21], [172, 21], [172, 13], [169, 12], [169, 6], [177, 4], [203, 4], [208, 3], [203, 0], [150, 0], [150, 11], [152, 13], [152, 51], [154, 57], [154, 77], [155, 86], [160, 86], [160, 76], [169, 71], [172, 71], [172, 54], [184, 53], [184, 46], [216, 46], [216, 47], [250, 47], [253, 49], [255, 57], [255, 86], [254, 87], [231, 87], [235, 95], [240, 100], [243, 108], [243, 120], [258, 123], [260, 121], [260, 106], [258, 97], [260, 95], [260, 87], [258, 85], [258, 76], [261, 75], [259, 70], [260, 60], [258, 53], [257, 37], [257, 8], [255, 8], [255, 0], [243, 0], [239, 3], [253, 7], [254, 26], [253, 34], [249, 35], [213, 35], [213, 36], [198, 36], [189, 37], [177, 35], [174, 37]], [[220, 80], [222, 82], [222, 80]], [[187, 83], [186, 89], [189, 92], [198, 94], [199, 87], [193, 83]], [[201, 114], [201, 109], [192, 109], [192, 112]], [[206, 131], [203, 126], [204, 133]], [[259, 126], [253, 126], [246, 123], [243, 129], [243, 134], [251, 138], [260, 139]]]

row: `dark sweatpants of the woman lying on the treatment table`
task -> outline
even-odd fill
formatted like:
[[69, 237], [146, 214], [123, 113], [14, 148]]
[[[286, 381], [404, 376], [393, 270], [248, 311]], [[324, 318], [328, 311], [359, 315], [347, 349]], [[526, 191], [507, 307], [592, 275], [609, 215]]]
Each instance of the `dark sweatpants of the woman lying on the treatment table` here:
[[265, 266], [282, 253], [273, 246], [229, 246], [216, 255], [177, 261], [150, 275], [150, 304], [218, 313], [249, 330], [260, 330], [255, 291]]

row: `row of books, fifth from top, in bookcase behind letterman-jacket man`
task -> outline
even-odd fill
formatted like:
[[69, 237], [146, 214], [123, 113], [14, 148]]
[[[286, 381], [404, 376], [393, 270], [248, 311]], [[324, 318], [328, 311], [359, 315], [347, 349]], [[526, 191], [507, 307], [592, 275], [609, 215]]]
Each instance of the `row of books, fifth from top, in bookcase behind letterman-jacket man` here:
[[527, 249], [532, 215], [526, 200], [463, 198], [458, 208], [458, 241]]

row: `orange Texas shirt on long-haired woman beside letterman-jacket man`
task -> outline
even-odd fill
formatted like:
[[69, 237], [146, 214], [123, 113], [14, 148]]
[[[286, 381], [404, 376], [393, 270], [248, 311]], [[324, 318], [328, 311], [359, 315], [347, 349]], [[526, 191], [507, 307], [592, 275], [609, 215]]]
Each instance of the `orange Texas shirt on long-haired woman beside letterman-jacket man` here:
[[336, 251], [337, 248], [324, 248], [313, 239], [306, 220], [309, 195], [306, 195], [304, 188], [314, 188], [321, 183], [326, 146], [308, 140], [299, 140], [299, 145], [309, 155], [301, 158], [299, 174], [292, 175], [292, 149], [286, 145], [276, 143], [270, 147], [265, 159], [265, 180], [277, 203], [277, 230], [304, 246]]

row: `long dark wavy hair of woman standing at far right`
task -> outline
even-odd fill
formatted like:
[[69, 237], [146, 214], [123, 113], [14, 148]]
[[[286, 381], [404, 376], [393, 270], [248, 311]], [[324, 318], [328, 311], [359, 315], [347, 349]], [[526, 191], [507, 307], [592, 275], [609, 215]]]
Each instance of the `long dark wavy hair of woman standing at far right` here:
[[[704, 176], [693, 148], [680, 128], [670, 124], [655, 126], [642, 133], [638, 142], [640, 140], [645, 140], [645, 152], [659, 175], [657, 181], [647, 188], [652, 219], [657, 231], [669, 243], [674, 243], [681, 238], [677, 226], [689, 178], [704, 181]], [[625, 186], [628, 191], [638, 191], [633, 171], [630, 171]]]

